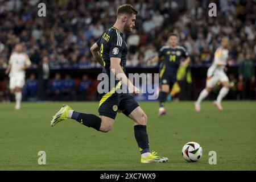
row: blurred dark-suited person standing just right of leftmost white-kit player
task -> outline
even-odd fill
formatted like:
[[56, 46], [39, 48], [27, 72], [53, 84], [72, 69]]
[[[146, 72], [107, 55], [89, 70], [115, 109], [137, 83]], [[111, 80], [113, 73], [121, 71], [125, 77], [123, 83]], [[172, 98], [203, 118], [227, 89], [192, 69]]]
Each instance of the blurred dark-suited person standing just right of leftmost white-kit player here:
[[49, 59], [44, 56], [42, 62], [38, 66], [38, 99], [44, 101], [47, 99], [47, 85], [49, 80]]

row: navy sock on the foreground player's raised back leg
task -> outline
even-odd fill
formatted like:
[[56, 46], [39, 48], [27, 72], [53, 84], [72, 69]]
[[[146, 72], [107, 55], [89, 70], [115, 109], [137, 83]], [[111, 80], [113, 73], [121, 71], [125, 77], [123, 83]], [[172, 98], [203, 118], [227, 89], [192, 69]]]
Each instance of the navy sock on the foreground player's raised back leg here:
[[97, 117], [97, 115], [85, 114], [85, 113], [79, 113], [77, 111], [73, 111], [71, 118], [75, 119], [77, 122], [81, 123], [82, 125], [85, 125], [87, 127], [92, 127], [100, 131], [101, 118]]

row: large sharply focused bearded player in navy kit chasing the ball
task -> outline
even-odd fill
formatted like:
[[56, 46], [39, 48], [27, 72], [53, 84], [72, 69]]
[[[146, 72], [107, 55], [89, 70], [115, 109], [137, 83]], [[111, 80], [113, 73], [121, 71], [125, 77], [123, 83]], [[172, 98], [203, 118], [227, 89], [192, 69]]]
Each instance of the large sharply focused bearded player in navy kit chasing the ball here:
[[[112, 74], [117, 78], [114, 84], [109, 79], [108, 92], [100, 94], [101, 100], [98, 107], [100, 117], [94, 114], [80, 113], [72, 110], [68, 105], [64, 105], [53, 116], [51, 126], [71, 118], [98, 131], [108, 132], [112, 129], [115, 115], [119, 111], [134, 121], [134, 135], [141, 152], [141, 163], [163, 163], [167, 162], [168, 158], [156, 156], [156, 152], [151, 152], [149, 149], [146, 130], [147, 115], [131, 96], [131, 94], [139, 93], [139, 89], [125, 75], [128, 50], [123, 39], [123, 32], [133, 31], [136, 15], [137, 10], [133, 6], [120, 6], [114, 26], [106, 30], [90, 48], [94, 59], [102, 65], [103, 73], [109, 78]], [[114, 86], [112, 87], [112, 85]], [[129, 93], [117, 92], [122, 85], [126, 86]]]

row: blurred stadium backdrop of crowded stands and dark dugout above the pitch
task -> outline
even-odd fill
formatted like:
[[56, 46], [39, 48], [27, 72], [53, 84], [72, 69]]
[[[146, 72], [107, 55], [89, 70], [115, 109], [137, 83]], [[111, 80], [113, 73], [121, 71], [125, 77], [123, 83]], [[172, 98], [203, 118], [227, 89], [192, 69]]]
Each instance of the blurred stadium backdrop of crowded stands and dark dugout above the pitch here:
[[[256, 98], [255, 1], [42, 1], [46, 4], [46, 17], [39, 17], [40, 2], [0, 0], [0, 101], [13, 100], [4, 71], [18, 42], [22, 42], [32, 61], [23, 88], [24, 101], [40, 100], [37, 69], [44, 56], [49, 59], [51, 77], [43, 100], [97, 100], [101, 68], [89, 48], [113, 25], [117, 7], [123, 3], [130, 3], [139, 11], [136, 31], [125, 34], [128, 73], [158, 73], [158, 65], [149, 66], [147, 61], [166, 44], [168, 34], [175, 32], [192, 61], [185, 72], [179, 73], [181, 90], [174, 97], [195, 100], [205, 86], [207, 68], [220, 39], [228, 36], [231, 46], [227, 74], [232, 89], [226, 98]], [[211, 2], [217, 5], [216, 17], [209, 16]], [[253, 75], [249, 75], [249, 84], [242, 85], [239, 76], [246, 75], [246, 71], [240, 67], [245, 59], [253, 61]], [[217, 85], [210, 98], [216, 97], [218, 89]]]

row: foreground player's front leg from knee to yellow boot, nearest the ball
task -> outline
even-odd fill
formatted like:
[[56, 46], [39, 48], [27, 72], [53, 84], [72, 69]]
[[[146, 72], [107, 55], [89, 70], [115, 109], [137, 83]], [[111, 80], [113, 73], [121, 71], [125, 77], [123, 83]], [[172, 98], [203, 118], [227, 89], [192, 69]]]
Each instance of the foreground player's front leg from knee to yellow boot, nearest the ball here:
[[138, 143], [139, 150], [141, 151], [141, 163], [164, 163], [168, 158], [156, 156], [156, 152], [150, 152], [148, 135], [147, 135], [147, 115], [137, 107], [130, 114], [129, 118], [135, 121], [134, 135]]

